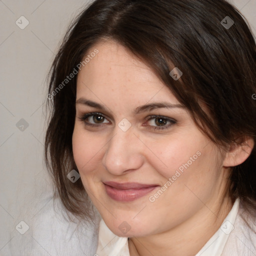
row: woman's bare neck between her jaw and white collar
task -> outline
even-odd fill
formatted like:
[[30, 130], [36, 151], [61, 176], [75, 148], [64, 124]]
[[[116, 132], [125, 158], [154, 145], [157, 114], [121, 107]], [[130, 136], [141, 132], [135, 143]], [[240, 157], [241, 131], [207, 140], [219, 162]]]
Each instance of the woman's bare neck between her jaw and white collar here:
[[130, 256], [193, 256], [217, 231], [232, 208], [229, 196], [213, 198], [180, 225], [146, 237], [131, 237]]

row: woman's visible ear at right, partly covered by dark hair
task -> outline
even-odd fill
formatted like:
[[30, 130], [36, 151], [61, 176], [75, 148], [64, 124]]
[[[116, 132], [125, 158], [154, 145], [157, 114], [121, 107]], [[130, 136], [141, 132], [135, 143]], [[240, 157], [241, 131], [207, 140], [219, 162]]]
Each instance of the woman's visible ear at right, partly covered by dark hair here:
[[223, 160], [224, 167], [236, 166], [244, 162], [250, 155], [254, 147], [254, 140], [252, 137], [243, 136], [239, 141], [235, 141], [229, 146]]

